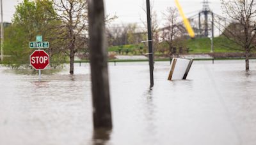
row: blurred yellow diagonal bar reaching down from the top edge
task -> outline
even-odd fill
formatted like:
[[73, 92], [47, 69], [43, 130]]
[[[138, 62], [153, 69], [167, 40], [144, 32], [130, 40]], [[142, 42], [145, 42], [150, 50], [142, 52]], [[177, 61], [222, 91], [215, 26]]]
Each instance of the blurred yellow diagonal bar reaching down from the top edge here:
[[193, 31], [193, 29], [192, 29], [192, 27], [191, 27], [191, 25], [190, 25], [190, 23], [189, 23], [189, 21], [188, 21], [188, 18], [186, 18], [186, 16], [184, 15], [184, 12], [183, 12], [183, 10], [182, 10], [182, 7], [180, 6], [179, 1], [178, 1], [178, 0], [175, 0], [175, 4], [176, 4], [176, 6], [177, 6], [177, 8], [178, 8], [178, 10], [179, 10], [180, 16], [181, 16], [182, 19], [183, 19], [183, 23], [184, 23], [184, 25], [185, 25], [185, 27], [186, 27], [186, 29], [187, 29], [187, 31], [188, 31], [189, 36], [190, 36], [191, 38], [195, 38], [195, 32]]

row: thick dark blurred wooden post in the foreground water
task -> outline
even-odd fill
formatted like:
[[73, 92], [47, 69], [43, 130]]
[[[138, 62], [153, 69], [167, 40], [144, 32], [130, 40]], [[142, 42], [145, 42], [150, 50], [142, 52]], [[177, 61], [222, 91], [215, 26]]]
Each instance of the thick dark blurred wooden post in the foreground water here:
[[88, 1], [93, 126], [112, 128], [103, 0]]

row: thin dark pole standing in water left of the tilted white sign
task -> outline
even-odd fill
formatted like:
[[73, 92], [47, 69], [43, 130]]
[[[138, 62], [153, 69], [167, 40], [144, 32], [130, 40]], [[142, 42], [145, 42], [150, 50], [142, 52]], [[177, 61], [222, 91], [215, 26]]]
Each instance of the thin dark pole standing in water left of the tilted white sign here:
[[147, 24], [148, 24], [148, 57], [149, 57], [149, 71], [150, 71], [150, 87], [154, 86], [154, 53], [152, 48], [152, 30], [151, 30], [151, 15], [150, 2], [147, 1]]

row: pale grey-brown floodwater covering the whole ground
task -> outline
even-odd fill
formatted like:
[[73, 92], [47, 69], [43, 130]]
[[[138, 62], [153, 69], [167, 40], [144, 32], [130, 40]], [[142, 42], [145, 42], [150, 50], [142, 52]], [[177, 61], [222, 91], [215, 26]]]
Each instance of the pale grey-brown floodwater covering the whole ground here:
[[[256, 60], [195, 61], [167, 81], [170, 62], [109, 64], [113, 130], [93, 131], [89, 64], [44, 74], [0, 67], [0, 144], [256, 144]], [[44, 73], [44, 72], [43, 72]]]

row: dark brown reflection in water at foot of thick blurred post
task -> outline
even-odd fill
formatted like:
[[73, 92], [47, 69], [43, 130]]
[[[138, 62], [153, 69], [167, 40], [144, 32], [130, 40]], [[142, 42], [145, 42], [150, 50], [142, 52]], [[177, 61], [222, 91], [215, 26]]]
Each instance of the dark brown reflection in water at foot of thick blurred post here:
[[93, 145], [105, 145], [108, 144], [112, 130], [99, 128], [93, 130], [92, 142]]

